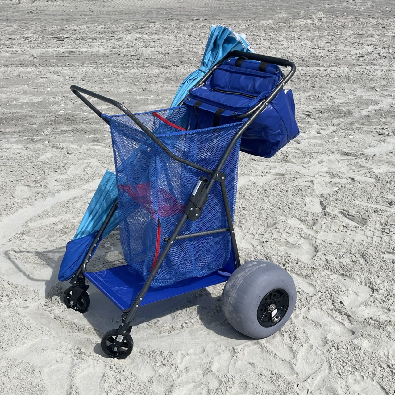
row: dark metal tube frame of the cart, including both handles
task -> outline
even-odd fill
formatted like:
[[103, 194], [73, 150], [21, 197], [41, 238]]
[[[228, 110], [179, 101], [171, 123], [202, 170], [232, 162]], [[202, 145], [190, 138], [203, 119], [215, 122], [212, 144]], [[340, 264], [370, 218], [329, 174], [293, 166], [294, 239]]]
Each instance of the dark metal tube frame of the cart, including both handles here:
[[[241, 137], [243, 132], [254, 122], [254, 120], [260, 115], [260, 113], [267, 107], [267, 105], [275, 98], [276, 94], [284, 87], [284, 85], [291, 79], [293, 74], [295, 73], [295, 64], [290, 62], [289, 60], [286, 59], [281, 59], [281, 58], [273, 58], [271, 56], [264, 56], [264, 55], [258, 55], [254, 53], [246, 53], [243, 51], [232, 51], [228, 53], [218, 64], [213, 66], [207, 74], [204, 75], [204, 77], [198, 82], [196, 86], [201, 86], [207, 81], [207, 79], [210, 77], [210, 75], [213, 73], [213, 71], [220, 66], [227, 58], [231, 58], [234, 56], [243, 56], [244, 58], [248, 58], [251, 60], [258, 60], [260, 62], [267, 62], [267, 63], [273, 63], [278, 66], [284, 66], [284, 67], [291, 67], [291, 71], [280, 80], [280, 83], [275, 87], [273, 92], [267, 98], [262, 100], [261, 102], [257, 103], [252, 109], [247, 111], [244, 114], [237, 115], [234, 118], [239, 120], [239, 119], [246, 119], [243, 125], [239, 128], [239, 130], [235, 133], [235, 135], [232, 137], [228, 147], [226, 148], [224, 154], [222, 155], [222, 158], [220, 159], [216, 169], [210, 170], [206, 169], [205, 167], [199, 166], [198, 164], [195, 164], [193, 162], [190, 162], [184, 158], [181, 158], [180, 156], [175, 155], [171, 150], [169, 150], [166, 145], [158, 139], [148, 128], [145, 126], [129, 109], [127, 109], [123, 104], [117, 102], [116, 100], [107, 98], [105, 96], [102, 96], [100, 94], [97, 94], [95, 92], [91, 92], [90, 90], [77, 87], [76, 85], [71, 85], [70, 89], [71, 91], [84, 102], [96, 115], [98, 115], [101, 119], [102, 118], [102, 112], [99, 111], [83, 94], [96, 98], [98, 100], [101, 100], [102, 102], [109, 103], [118, 109], [120, 109], [124, 114], [126, 114], [143, 132], [145, 132], [166, 154], [170, 156], [170, 158], [177, 160], [178, 162], [181, 162], [185, 164], [186, 166], [193, 167], [195, 169], [198, 169], [200, 171], [203, 171], [204, 173], [207, 174], [209, 178], [206, 177], [201, 177], [197, 184], [197, 192], [190, 196], [188, 204], [186, 205], [186, 209], [184, 213], [182, 214], [181, 220], [174, 229], [172, 235], [170, 237], [166, 237], [164, 241], [167, 242], [165, 248], [162, 250], [160, 256], [158, 257], [158, 260], [156, 262], [156, 265], [152, 269], [149, 277], [147, 278], [147, 281], [145, 282], [143, 288], [137, 295], [134, 303], [130, 306], [130, 308], [124, 310], [124, 314], [122, 314], [122, 323], [118, 329], [118, 337], [113, 343], [113, 347], [119, 347], [120, 344], [122, 344], [122, 341], [124, 339], [124, 336], [128, 335], [130, 333], [130, 329], [132, 327], [132, 319], [135, 315], [135, 312], [137, 311], [137, 308], [140, 305], [140, 302], [143, 300], [144, 295], [147, 293], [150, 284], [152, 283], [152, 280], [156, 276], [156, 273], [158, 273], [158, 270], [160, 269], [160, 266], [162, 265], [164, 259], [166, 258], [167, 253], [169, 252], [171, 246], [173, 245], [174, 241], [179, 240], [179, 239], [185, 239], [187, 237], [197, 237], [197, 236], [202, 236], [202, 235], [208, 235], [208, 234], [213, 234], [213, 233], [219, 233], [219, 232], [224, 232], [224, 231], [229, 231], [230, 237], [231, 237], [231, 243], [232, 243], [232, 248], [233, 248], [233, 254], [235, 258], [235, 267], [240, 266], [240, 258], [239, 258], [239, 252], [237, 249], [237, 243], [236, 243], [236, 238], [235, 238], [235, 232], [233, 229], [233, 221], [232, 221], [232, 216], [231, 216], [231, 211], [229, 207], [229, 200], [228, 200], [228, 194], [226, 192], [226, 187], [225, 187], [225, 178], [226, 175], [221, 172], [222, 167], [224, 166], [229, 154], [231, 153], [231, 150], [235, 146], [235, 143], [237, 140]], [[182, 104], [183, 101], [180, 103]], [[107, 124], [109, 122], [106, 119], [103, 119]], [[224, 200], [224, 206], [225, 206], [225, 212], [226, 212], [226, 219], [228, 222], [228, 228], [221, 228], [221, 229], [213, 229], [209, 231], [204, 231], [204, 232], [198, 232], [198, 233], [190, 233], [186, 235], [179, 235], [182, 226], [186, 222], [187, 219], [190, 220], [196, 220], [200, 217], [201, 210], [203, 209], [205, 202], [207, 201], [207, 196], [211, 190], [211, 188], [214, 185], [214, 182], [218, 181], [220, 182], [220, 187], [221, 187], [221, 192], [222, 192], [222, 197]], [[105, 222], [103, 223], [102, 227], [100, 228], [98, 235], [95, 239], [95, 241], [92, 243], [90, 246], [86, 256], [84, 257], [83, 263], [81, 263], [79, 269], [76, 271], [75, 275], [73, 278], [71, 278], [70, 283], [74, 286], [77, 286], [78, 288], [81, 289], [81, 293], [83, 290], [87, 289], [87, 286], [85, 285], [85, 276], [84, 273], [86, 271], [87, 263], [89, 261], [90, 256], [92, 255], [92, 251], [96, 247], [96, 243], [100, 241], [100, 238], [102, 237], [103, 231], [105, 227], [107, 226], [108, 222], [110, 221], [111, 217], [113, 216], [115, 210], [117, 209], [117, 201], [115, 201], [113, 207], [111, 208], [109, 214], [107, 215]], [[76, 292], [76, 298], [79, 297], [80, 294]]]

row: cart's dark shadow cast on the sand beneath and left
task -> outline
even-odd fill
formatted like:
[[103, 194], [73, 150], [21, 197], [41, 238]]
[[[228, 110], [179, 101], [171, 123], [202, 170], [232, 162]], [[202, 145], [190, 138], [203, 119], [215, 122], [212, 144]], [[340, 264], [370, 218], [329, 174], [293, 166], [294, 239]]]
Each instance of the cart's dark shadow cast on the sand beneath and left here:
[[[113, 232], [116, 234], [118, 231]], [[113, 235], [111, 235], [113, 236]], [[109, 236], [108, 239], [113, 239]], [[107, 240], [107, 239], [106, 239]], [[119, 244], [119, 242], [118, 242]], [[114, 243], [111, 243], [114, 245]], [[90, 262], [90, 270], [98, 271], [119, 265], [118, 261], [110, 261], [107, 257], [107, 253], [110, 251], [120, 251], [120, 245], [115, 248], [105, 248], [99, 246], [95, 258]], [[58, 271], [60, 263], [64, 254], [64, 247], [53, 248], [51, 250], [46, 249], [43, 251], [29, 251], [29, 250], [18, 250], [13, 249], [14, 254], [32, 254], [38, 258], [41, 262], [44, 262], [51, 267], [50, 278], [35, 278], [34, 276], [27, 273], [18, 263], [17, 260], [10, 255], [10, 251], [5, 251], [4, 255], [8, 261], [21, 273], [25, 278], [32, 282], [42, 282], [45, 284], [45, 298], [52, 300], [53, 303], [63, 304], [63, 292], [68, 288], [68, 282], [62, 284], [58, 280]], [[36, 260], [36, 259], [35, 259]], [[88, 282], [89, 284], [89, 282]], [[100, 347], [100, 339], [109, 327], [117, 327], [120, 322], [120, 310], [109, 300], [102, 292], [96, 289], [95, 286], [89, 284], [90, 288], [88, 294], [90, 295], [91, 305], [87, 312], [83, 314], [92, 329], [98, 336], [98, 344], [94, 347], [94, 352], [104, 356], [104, 353]], [[55, 298], [55, 299], [54, 299]], [[197, 291], [192, 291], [187, 294], [179, 295], [169, 299], [164, 299], [149, 305], [141, 306], [137, 310], [134, 318], [134, 327], [145, 324], [147, 322], [160, 319], [171, 314], [175, 314], [187, 308], [197, 306], [196, 314], [198, 321], [204, 325], [205, 328], [209, 329], [216, 335], [234, 340], [254, 340], [233, 328], [231, 324], [226, 320], [221, 308], [221, 296], [213, 297], [207, 288], [203, 288]], [[70, 314], [73, 314], [71, 310]], [[79, 314], [79, 313], [78, 313]], [[194, 316], [191, 316], [193, 320]], [[70, 320], [73, 320], [70, 318]], [[180, 329], [181, 328], [181, 323]], [[152, 324], [156, 325], [156, 324]], [[194, 324], [196, 325], [196, 324]]]

